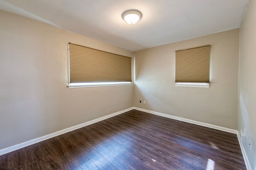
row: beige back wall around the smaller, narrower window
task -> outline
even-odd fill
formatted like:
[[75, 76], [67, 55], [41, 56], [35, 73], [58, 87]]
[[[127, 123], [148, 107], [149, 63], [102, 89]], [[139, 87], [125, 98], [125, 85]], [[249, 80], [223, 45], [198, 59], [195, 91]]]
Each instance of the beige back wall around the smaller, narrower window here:
[[[176, 87], [175, 51], [204, 45], [212, 45], [212, 85]], [[134, 106], [237, 130], [238, 54], [239, 29], [136, 51]]]

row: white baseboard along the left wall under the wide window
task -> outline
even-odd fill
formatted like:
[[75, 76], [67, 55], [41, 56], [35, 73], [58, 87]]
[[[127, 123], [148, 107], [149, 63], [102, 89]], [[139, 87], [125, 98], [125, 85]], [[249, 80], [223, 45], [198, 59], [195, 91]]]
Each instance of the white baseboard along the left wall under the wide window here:
[[26, 141], [24, 143], [20, 143], [20, 144], [17, 144], [17, 145], [14, 145], [14, 146], [11, 146], [11, 147], [8, 147], [8, 148], [4, 148], [4, 149], [1, 149], [0, 150], [0, 156], [3, 155], [3, 154], [6, 154], [6, 153], [9, 153], [9, 152], [12, 152], [14, 150], [18, 150], [18, 149], [21, 149], [21, 148], [24, 148], [24, 147], [28, 147], [29, 145], [33, 145], [35, 143], [38, 143], [38, 142], [41, 142], [41, 141], [44, 141], [44, 140], [47, 140], [47, 139], [50, 139], [50, 138], [53, 138], [53, 137], [56, 137], [58, 135], [62, 135], [64, 133], [68, 133], [70, 131], [74, 131], [76, 129], [79, 129], [79, 128], [82, 128], [82, 127], [85, 127], [85, 126], [88, 126], [88, 125], [91, 125], [93, 123], [96, 123], [96, 122], [99, 122], [99, 121], [102, 121], [102, 120], [105, 120], [105, 119], [108, 119], [110, 117], [113, 117], [113, 116], [116, 116], [116, 115], [119, 115], [119, 114], [122, 114], [122, 113], [125, 113], [126, 111], [130, 111], [134, 109], [133, 107], [130, 107], [128, 109], [125, 109], [125, 110], [122, 110], [122, 111], [118, 111], [116, 113], [112, 113], [110, 115], [106, 115], [106, 116], [103, 116], [103, 117], [100, 117], [98, 119], [94, 119], [92, 121], [88, 121], [88, 122], [85, 122], [85, 123], [82, 123], [80, 125], [76, 125], [76, 126], [73, 126], [73, 127], [69, 127], [67, 129], [63, 129], [63, 130], [60, 130], [60, 131], [57, 131], [57, 132], [54, 132], [54, 133], [51, 133], [49, 135], [45, 135], [45, 136], [42, 136], [42, 137], [38, 137], [36, 139], [32, 139], [30, 141]]

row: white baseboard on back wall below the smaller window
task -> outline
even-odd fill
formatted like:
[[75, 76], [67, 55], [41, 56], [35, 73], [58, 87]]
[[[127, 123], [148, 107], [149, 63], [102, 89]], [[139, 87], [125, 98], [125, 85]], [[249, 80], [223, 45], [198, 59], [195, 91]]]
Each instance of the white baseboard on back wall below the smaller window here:
[[138, 107], [134, 107], [134, 109], [139, 110], [139, 111], [144, 111], [146, 113], [151, 113], [151, 114], [154, 114], [154, 115], [159, 115], [159, 116], [162, 116], [162, 117], [167, 117], [167, 118], [170, 118], [170, 119], [175, 119], [175, 120], [184, 121], [184, 122], [187, 122], [187, 123], [192, 123], [192, 124], [195, 124], [195, 125], [200, 125], [200, 126], [209, 127], [209, 128], [212, 128], [212, 129], [217, 129], [217, 130], [224, 131], [224, 132], [229, 132], [229, 133], [233, 133], [233, 134], [238, 133], [238, 131], [236, 131], [234, 129], [228, 129], [226, 127], [211, 125], [211, 124], [208, 124], [208, 123], [202, 123], [200, 121], [194, 121], [194, 120], [185, 119], [185, 118], [182, 118], [182, 117], [167, 115], [167, 114], [164, 114], [164, 113], [159, 113], [159, 112], [156, 112], [156, 111], [141, 109], [141, 108], [138, 108]]

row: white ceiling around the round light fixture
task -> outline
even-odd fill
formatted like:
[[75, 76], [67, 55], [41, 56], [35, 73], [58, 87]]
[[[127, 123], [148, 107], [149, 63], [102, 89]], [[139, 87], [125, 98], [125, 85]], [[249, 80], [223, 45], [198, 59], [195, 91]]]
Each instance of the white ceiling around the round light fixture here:
[[[240, 27], [249, 0], [0, 0], [0, 9], [130, 51]], [[122, 19], [142, 12], [134, 25]]]

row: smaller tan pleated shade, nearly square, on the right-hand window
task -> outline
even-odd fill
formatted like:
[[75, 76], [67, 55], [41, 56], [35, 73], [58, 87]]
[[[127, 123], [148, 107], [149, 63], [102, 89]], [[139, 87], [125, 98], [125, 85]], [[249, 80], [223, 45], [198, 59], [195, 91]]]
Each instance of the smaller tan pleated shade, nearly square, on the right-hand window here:
[[176, 51], [175, 82], [210, 82], [210, 45]]

